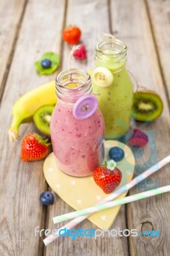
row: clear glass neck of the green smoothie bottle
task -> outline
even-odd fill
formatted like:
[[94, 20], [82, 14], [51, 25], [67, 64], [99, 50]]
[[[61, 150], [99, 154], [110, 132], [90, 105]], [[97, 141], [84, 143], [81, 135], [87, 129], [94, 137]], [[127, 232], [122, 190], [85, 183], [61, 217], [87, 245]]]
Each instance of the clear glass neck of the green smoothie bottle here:
[[122, 70], [127, 62], [127, 45], [118, 39], [108, 38], [99, 42], [95, 50], [95, 64], [111, 72]]

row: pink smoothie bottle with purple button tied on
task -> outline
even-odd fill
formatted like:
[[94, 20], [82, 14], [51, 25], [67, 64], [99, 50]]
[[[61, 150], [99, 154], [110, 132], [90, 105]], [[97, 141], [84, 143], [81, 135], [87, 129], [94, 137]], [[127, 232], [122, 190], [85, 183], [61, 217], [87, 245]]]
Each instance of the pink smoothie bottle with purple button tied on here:
[[50, 121], [56, 163], [63, 172], [91, 175], [104, 160], [104, 118], [91, 95], [87, 72], [70, 69], [56, 78], [58, 103]]

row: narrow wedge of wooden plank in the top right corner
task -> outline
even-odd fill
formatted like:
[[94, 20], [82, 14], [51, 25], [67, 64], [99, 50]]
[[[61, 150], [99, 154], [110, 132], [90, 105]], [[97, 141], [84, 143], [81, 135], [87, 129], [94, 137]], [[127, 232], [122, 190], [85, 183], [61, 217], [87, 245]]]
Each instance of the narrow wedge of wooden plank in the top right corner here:
[[170, 1], [147, 0], [146, 4], [150, 15], [163, 81], [167, 89], [167, 97], [170, 99]]

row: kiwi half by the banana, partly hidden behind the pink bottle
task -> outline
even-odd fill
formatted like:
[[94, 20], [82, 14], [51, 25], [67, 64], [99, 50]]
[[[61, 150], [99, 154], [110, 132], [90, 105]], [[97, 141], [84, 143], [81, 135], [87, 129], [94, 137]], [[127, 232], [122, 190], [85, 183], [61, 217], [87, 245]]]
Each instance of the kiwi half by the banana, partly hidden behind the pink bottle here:
[[50, 135], [50, 119], [54, 108], [51, 105], [43, 105], [33, 115], [36, 128], [45, 135]]

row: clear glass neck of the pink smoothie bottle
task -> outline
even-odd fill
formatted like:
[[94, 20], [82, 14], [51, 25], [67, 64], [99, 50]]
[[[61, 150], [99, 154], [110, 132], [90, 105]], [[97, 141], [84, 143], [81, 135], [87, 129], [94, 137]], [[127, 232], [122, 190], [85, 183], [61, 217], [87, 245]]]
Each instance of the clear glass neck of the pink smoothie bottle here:
[[58, 99], [75, 103], [83, 95], [92, 91], [89, 74], [80, 69], [64, 70], [56, 77], [56, 94]]

